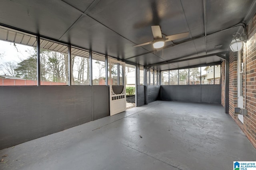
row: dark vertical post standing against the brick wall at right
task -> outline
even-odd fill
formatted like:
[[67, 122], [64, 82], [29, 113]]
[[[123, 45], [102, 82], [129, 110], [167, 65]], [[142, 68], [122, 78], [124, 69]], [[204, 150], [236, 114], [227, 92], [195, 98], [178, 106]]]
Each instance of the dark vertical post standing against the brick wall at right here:
[[225, 60], [225, 113], [229, 113], [229, 53]]

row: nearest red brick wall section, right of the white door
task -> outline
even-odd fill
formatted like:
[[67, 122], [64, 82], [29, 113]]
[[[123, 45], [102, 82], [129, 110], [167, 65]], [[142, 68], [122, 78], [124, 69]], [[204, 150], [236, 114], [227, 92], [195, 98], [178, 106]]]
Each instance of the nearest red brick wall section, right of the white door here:
[[256, 15], [248, 24], [248, 41], [243, 48], [246, 53], [246, 109], [244, 133], [256, 148]]

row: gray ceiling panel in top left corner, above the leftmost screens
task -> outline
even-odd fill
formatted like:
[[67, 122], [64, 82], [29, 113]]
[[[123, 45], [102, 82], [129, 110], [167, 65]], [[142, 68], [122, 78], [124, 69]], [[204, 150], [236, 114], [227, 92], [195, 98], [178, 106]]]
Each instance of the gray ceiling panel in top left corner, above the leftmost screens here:
[[80, 15], [62, 1], [3, 0], [0, 5], [0, 23], [54, 39], [59, 39]]

